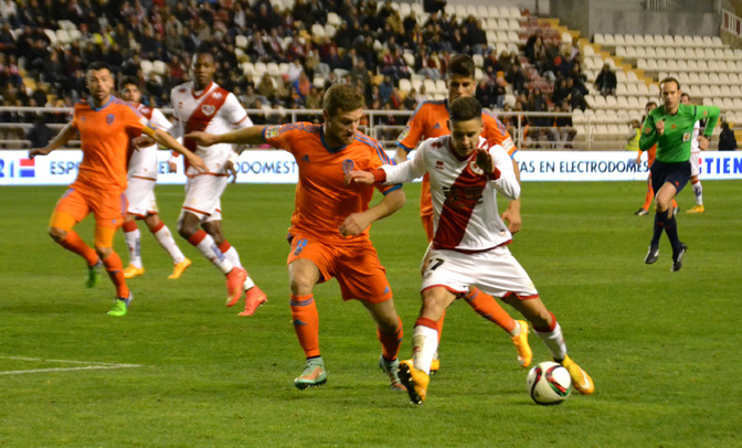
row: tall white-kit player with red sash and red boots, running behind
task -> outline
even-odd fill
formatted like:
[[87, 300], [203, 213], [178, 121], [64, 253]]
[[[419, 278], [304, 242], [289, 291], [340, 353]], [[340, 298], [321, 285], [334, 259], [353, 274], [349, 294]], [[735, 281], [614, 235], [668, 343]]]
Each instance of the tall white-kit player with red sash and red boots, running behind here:
[[[216, 65], [206, 47], [197, 50], [191, 70], [193, 81], [176, 86], [170, 93], [173, 136], [199, 130], [225, 134], [253, 125], [237, 98], [213, 82]], [[220, 199], [230, 173], [236, 175], [237, 154], [232, 145], [202, 148], [186, 139], [183, 146], [202, 157], [209, 171], [199, 173], [186, 166], [186, 200], [178, 218], [178, 232], [226, 276], [226, 306], [234, 306], [244, 294], [245, 310], [240, 316], [252, 316], [266, 301], [266, 296], [250, 278], [237, 250], [222, 233]]]

